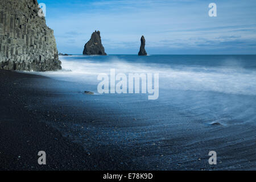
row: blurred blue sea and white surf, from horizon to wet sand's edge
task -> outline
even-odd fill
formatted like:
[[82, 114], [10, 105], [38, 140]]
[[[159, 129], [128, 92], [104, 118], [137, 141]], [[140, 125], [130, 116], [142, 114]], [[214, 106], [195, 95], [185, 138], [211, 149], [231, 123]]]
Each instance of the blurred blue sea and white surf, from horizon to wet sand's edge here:
[[[122, 99], [124, 110], [130, 110], [129, 103], [139, 99], [156, 108], [161, 106], [161, 110], [175, 106], [205, 122], [256, 121], [255, 55], [73, 55], [61, 56], [60, 60], [63, 71], [39, 74], [79, 83], [77, 88], [66, 89], [80, 92], [86, 89], [97, 93], [98, 74], [110, 74], [112, 68], [126, 75], [159, 73], [159, 98], [156, 101], [148, 101], [142, 94], [106, 96], [106, 99], [110, 97], [110, 105], [115, 98]], [[132, 108], [144, 110], [139, 102], [134, 102]], [[157, 109], [145, 112], [152, 117], [159, 113]]]

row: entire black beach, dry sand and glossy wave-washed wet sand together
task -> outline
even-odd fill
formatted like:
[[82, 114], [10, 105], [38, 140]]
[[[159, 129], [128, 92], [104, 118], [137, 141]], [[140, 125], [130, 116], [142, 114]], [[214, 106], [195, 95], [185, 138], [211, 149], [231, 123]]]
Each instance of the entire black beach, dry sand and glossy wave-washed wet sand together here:
[[[189, 113], [181, 111], [169, 124], [139, 109], [136, 113], [134, 104], [129, 113], [117, 102], [121, 113], [106, 96], [62, 89], [72, 90], [71, 85], [0, 70], [0, 170], [255, 169], [255, 126], [250, 123], [188, 121], [183, 126], [179, 119]], [[143, 106], [159, 111], [147, 102]], [[164, 117], [171, 110], [161, 112], [155, 114]], [[130, 118], [131, 113], [138, 117]], [[217, 151], [217, 165], [208, 163], [210, 150]], [[38, 164], [39, 151], [46, 151], [46, 166]]]

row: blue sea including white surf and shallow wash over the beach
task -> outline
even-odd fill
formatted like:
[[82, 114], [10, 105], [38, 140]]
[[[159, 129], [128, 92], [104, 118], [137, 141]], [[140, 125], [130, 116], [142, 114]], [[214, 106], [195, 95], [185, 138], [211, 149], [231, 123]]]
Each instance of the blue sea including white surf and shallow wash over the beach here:
[[[52, 125], [64, 135], [74, 131], [73, 140], [86, 150], [119, 148], [123, 158], [117, 162], [136, 163], [139, 169], [255, 169], [256, 55], [72, 55], [60, 60], [62, 71], [34, 73], [60, 81], [53, 89], [65, 97], [49, 100], [79, 119], [63, 121], [69, 134], [62, 124]], [[98, 93], [97, 77], [110, 75], [110, 69], [127, 77], [158, 73], [158, 98]], [[218, 165], [208, 164], [209, 151], [217, 152]]]

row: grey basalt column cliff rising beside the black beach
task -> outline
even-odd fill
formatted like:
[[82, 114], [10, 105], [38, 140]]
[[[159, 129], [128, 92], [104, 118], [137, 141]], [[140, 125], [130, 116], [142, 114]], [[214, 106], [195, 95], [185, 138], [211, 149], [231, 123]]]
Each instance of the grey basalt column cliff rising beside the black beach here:
[[0, 69], [61, 69], [53, 30], [39, 10], [37, 0], [1, 0]]

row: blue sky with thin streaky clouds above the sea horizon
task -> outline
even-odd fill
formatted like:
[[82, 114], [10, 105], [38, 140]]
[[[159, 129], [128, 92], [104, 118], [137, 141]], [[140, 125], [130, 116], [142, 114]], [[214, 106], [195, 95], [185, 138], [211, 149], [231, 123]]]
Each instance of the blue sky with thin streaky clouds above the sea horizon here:
[[[81, 54], [101, 31], [108, 54], [256, 54], [255, 0], [38, 0], [59, 52]], [[217, 16], [208, 7], [216, 3]]]

